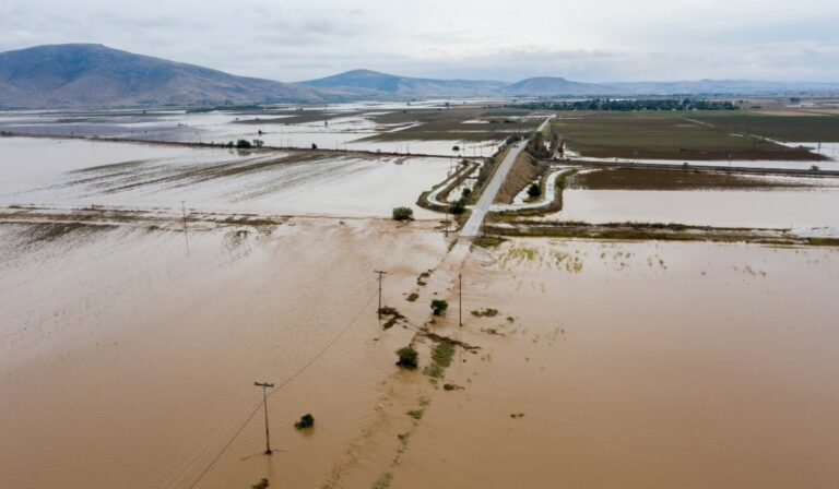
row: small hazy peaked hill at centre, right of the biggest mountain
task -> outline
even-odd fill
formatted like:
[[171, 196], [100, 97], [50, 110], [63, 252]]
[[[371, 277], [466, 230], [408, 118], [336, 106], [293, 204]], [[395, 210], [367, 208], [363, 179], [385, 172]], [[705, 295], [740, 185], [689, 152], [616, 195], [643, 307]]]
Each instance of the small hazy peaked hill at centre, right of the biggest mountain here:
[[318, 80], [299, 82], [344, 95], [379, 98], [435, 98], [498, 96], [508, 85], [485, 80], [433, 80], [398, 76], [371, 70], [353, 70]]

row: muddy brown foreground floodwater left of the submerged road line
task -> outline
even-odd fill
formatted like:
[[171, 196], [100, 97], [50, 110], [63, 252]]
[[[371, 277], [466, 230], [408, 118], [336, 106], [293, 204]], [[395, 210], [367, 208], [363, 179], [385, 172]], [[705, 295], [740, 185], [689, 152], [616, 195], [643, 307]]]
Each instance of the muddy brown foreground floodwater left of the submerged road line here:
[[[373, 271], [411, 311], [402, 291], [446, 251], [416, 223], [198, 228], [189, 254], [180, 232], [33, 226], [0, 224], [3, 488], [316, 487], [407, 341], [382, 332]], [[277, 384], [270, 458], [255, 381]]]

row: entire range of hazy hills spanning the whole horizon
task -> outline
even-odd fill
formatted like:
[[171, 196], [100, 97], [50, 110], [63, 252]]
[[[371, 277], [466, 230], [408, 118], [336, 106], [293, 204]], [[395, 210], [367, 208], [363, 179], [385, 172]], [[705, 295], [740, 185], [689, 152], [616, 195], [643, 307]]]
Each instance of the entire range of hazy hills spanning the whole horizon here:
[[353, 70], [281, 83], [93, 44], [0, 52], [0, 108], [208, 106], [472, 97], [608, 97], [649, 95], [839, 94], [839, 83], [737, 80], [581, 83], [540, 76], [506, 83], [435, 80]]

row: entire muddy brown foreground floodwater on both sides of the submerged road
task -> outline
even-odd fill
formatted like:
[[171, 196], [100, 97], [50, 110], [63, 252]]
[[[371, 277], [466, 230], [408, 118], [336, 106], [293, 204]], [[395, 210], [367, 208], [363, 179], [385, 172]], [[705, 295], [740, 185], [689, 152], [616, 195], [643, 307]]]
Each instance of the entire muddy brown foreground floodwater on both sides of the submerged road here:
[[[196, 487], [839, 479], [837, 251], [521, 239], [470, 253], [429, 226], [216, 228], [190, 235], [187, 255], [179, 232], [33, 241], [0, 225], [0, 487], [187, 488], [206, 467]], [[399, 372], [414, 331], [382, 332], [375, 269], [386, 303], [422, 324], [447, 298], [432, 330], [481, 350], [436, 385]], [[468, 313], [482, 308], [500, 313]], [[265, 457], [252, 383], [287, 379]], [[305, 413], [316, 427], [297, 432]]]

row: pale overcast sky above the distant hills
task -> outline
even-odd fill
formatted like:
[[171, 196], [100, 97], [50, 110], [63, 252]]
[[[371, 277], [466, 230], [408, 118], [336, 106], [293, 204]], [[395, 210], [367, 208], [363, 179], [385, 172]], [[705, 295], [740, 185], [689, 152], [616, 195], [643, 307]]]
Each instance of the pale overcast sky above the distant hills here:
[[0, 1], [0, 50], [59, 43], [280, 81], [839, 82], [839, 0]]

